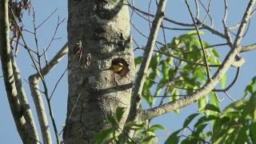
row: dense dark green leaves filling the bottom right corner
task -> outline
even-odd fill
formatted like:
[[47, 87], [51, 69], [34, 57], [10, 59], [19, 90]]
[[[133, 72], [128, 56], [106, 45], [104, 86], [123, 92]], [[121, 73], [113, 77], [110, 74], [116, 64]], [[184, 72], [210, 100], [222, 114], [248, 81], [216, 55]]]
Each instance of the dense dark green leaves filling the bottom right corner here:
[[[190, 114], [182, 129], [170, 134], [166, 143], [255, 143], [256, 142], [256, 77], [246, 86], [245, 95], [237, 102], [226, 106], [222, 112], [218, 106], [207, 104], [204, 113]], [[207, 113], [209, 112], [210, 113]], [[194, 128], [190, 124], [194, 118]], [[182, 133], [190, 130], [186, 138]]]

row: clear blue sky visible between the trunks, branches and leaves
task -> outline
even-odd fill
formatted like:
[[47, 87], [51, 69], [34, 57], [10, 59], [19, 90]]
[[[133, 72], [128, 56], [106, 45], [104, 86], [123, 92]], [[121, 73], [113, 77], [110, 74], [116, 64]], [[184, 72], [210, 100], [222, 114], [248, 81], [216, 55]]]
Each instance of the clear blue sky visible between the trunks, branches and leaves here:
[[[142, 8], [142, 10], [147, 10], [148, 7], [148, 0], [140, 0], [135, 2], [135, 6]], [[246, 8], [247, 1], [236, 1], [236, 2], [229, 2], [230, 9], [229, 9], [229, 18], [228, 18], [228, 26], [233, 26], [236, 24], [241, 18], [242, 14]], [[66, 18], [67, 19], [67, 2], [62, 0], [55, 0], [55, 1], [32, 1], [34, 10], [36, 11], [36, 22], [37, 24], [42, 22], [46, 17], [49, 16], [55, 9], [58, 11], [53, 15], [52, 18], [45, 25], [43, 25], [38, 30], [38, 39], [39, 39], [39, 47], [43, 48], [46, 47], [50, 38], [54, 34], [54, 28], [58, 22], [58, 16], [60, 19]], [[152, 1], [152, 10], [151, 13], [154, 13], [154, 1]], [[223, 14], [223, 2], [222, 1], [213, 1], [211, 5], [211, 14], [214, 18], [214, 27], [220, 31], [222, 31], [222, 14]], [[203, 18], [203, 13], [201, 14]], [[180, 22], [189, 22], [191, 23], [191, 18], [189, 16], [188, 10], [186, 9], [185, 1], [168, 1], [166, 5], [166, 16], [168, 18], [174, 19]], [[31, 15], [24, 15], [25, 18], [25, 26], [29, 29], [32, 21]], [[142, 30], [143, 33], [149, 34], [149, 26], [147, 22], [141, 20], [137, 16], [132, 18], [134, 24]], [[54, 54], [62, 47], [62, 45], [66, 42], [66, 20], [60, 26], [57, 37], [61, 38], [58, 41], [54, 42], [53, 45], [50, 47], [50, 51], [48, 53], [48, 58], [52, 58]], [[166, 26], [174, 26], [173, 24], [165, 22]], [[252, 18], [250, 22], [250, 30], [246, 35], [246, 38], [242, 40], [243, 45], [252, 44], [255, 42], [255, 18]], [[178, 34], [184, 34], [186, 31], [174, 31], [174, 30], [166, 30], [166, 39], [171, 40], [174, 36]], [[146, 45], [146, 38], [142, 38], [133, 28], [132, 28], [133, 38], [139, 42], [140, 46]], [[204, 41], [209, 42], [210, 44], [216, 44], [218, 42], [223, 42], [222, 39], [217, 37], [212, 37], [210, 33], [205, 33], [202, 37]], [[30, 46], [34, 46], [33, 37], [29, 34], [26, 34], [26, 40]], [[158, 40], [162, 41], [162, 32], [160, 30]], [[220, 47], [222, 57], [225, 56], [228, 48], [227, 47]], [[137, 52], [136, 52], [137, 53]], [[139, 55], [140, 53], [137, 53]], [[236, 99], [242, 98], [244, 87], [250, 82], [250, 78], [256, 75], [256, 66], [254, 66], [256, 51], [251, 51], [246, 54], [242, 54], [242, 57], [246, 59], [246, 63], [242, 66], [242, 71], [240, 77], [238, 78], [238, 82], [235, 86], [230, 90], [230, 95]], [[49, 86], [50, 92], [53, 90], [53, 86], [57, 82], [58, 78], [61, 76], [62, 72], [66, 69], [66, 58], [59, 63], [59, 65], [51, 72], [50, 75], [47, 75], [46, 82]], [[27, 78], [30, 74], [35, 72], [34, 68], [31, 66], [31, 61], [28, 55], [26, 54], [25, 50], [20, 50], [17, 62], [19, 69], [21, 71], [21, 75], [23, 78], [23, 85], [26, 89], [27, 97], [29, 98], [30, 106], [32, 110], [34, 110], [33, 100], [30, 96], [30, 90], [28, 84], [26, 82]], [[232, 80], [234, 76], [234, 70], [229, 70], [230, 78], [228, 80]], [[2, 75], [2, 70], [0, 71], [0, 75]], [[66, 99], [67, 99], [67, 81], [66, 77], [62, 79], [62, 82], [58, 85], [56, 93], [54, 94], [54, 98], [52, 99], [53, 109], [54, 109], [54, 116], [57, 122], [58, 130], [62, 129], [62, 125], [65, 123], [66, 118]], [[230, 82], [230, 81], [228, 81]], [[230, 103], [230, 99], [226, 98], [224, 94], [218, 94], [219, 97], [224, 98], [222, 102], [222, 107], [226, 106], [226, 104]], [[153, 120], [154, 123], [160, 123], [163, 126], [166, 126], [166, 130], [159, 131], [159, 142], [164, 142], [164, 139], [173, 132], [182, 126], [184, 119], [187, 115], [194, 113], [197, 111], [197, 105], [194, 104], [192, 106], [187, 106], [186, 108], [180, 110], [180, 114], [166, 114], [160, 118], [155, 118]], [[34, 110], [34, 116], [36, 116]], [[35, 118], [36, 122], [37, 119]], [[38, 123], [38, 122], [37, 122]], [[38, 127], [39, 130], [39, 127]], [[40, 130], [39, 130], [40, 131]], [[52, 136], [54, 138], [54, 135]], [[16, 127], [14, 126], [14, 120], [10, 113], [10, 107], [8, 105], [8, 101], [6, 98], [5, 87], [3, 85], [3, 79], [0, 78], [0, 138], [1, 143], [22, 143]]]

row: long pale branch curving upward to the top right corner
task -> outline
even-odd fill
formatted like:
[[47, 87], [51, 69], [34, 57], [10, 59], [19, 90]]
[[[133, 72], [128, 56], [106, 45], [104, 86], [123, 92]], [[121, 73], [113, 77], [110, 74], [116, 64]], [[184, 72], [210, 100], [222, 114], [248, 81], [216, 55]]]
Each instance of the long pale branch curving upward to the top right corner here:
[[141, 121], [155, 118], [160, 115], [169, 113], [172, 110], [178, 110], [182, 107], [188, 106], [198, 101], [198, 99], [203, 98], [204, 96], [206, 96], [206, 94], [210, 93], [210, 91], [214, 89], [214, 87], [226, 74], [226, 71], [229, 70], [232, 62], [234, 62], [235, 56], [239, 53], [239, 45], [242, 40], [242, 34], [246, 29], [246, 23], [250, 19], [250, 13], [254, 7], [255, 1], [256, 0], [250, 0], [246, 8], [246, 12], [242, 17], [242, 22], [241, 25], [239, 26], [237, 37], [234, 40], [233, 48], [226, 55], [225, 60], [222, 62], [222, 65], [218, 68], [218, 70], [215, 72], [214, 76], [212, 77], [212, 80], [210, 82], [206, 82], [205, 86], [202, 86], [200, 90], [196, 91], [194, 94], [190, 96], [187, 96], [185, 98], [179, 98], [174, 102], [167, 102], [166, 104], [163, 104], [161, 106], [156, 106], [154, 108], [150, 108], [147, 110], [141, 110], [140, 112], [138, 112], [138, 118], [140, 118]]

